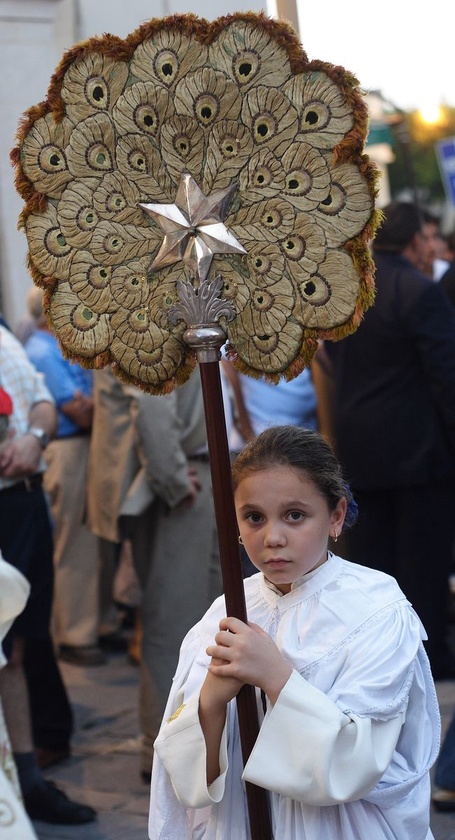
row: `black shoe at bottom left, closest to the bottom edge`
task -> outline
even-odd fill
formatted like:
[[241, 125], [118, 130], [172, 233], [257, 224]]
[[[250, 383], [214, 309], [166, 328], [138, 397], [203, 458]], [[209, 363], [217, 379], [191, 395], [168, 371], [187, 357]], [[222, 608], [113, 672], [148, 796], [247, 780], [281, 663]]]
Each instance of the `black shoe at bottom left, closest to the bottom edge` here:
[[54, 825], [81, 825], [96, 819], [93, 808], [68, 799], [66, 793], [46, 779], [24, 794], [24, 805], [31, 820]]

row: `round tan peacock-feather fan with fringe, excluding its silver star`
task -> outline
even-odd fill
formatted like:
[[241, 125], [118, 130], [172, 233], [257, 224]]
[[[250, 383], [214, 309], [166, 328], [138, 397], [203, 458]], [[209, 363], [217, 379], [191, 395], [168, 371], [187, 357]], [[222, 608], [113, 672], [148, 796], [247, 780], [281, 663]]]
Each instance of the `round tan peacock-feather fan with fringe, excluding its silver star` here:
[[174, 15], [69, 50], [11, 153], [29, 269], [63, 352], [154, 394], [191, 375], [186, 325], [169, 313], [197, 278], [178, 237], [157, 259], [169, 223], [141, 207], [185, 215], [188, 174], [208, 199], [235, 187], [223, 221], [242, 252], [215, 251], [207, 274], [235, 310], [220, 317], [233, 363], [296, 376], [374, 300], [366, 135], [357, 80], [308, 61], [264, 14]]

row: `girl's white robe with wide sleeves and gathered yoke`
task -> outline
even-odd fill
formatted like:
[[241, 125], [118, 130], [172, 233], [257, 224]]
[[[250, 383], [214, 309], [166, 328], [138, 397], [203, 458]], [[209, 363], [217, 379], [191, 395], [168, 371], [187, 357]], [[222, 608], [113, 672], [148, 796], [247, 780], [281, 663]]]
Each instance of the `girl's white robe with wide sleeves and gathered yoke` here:
[[249, 840], [243, 780], [271, 792], [276, 840], [430, 840], [439, 707], [422, 625], [396, 581], [329, 555], [287, 595], [261, 574], [245, 593], [249, 620], [294, 671], [244, 770], [229, 704], [208, 788], [198, 699], [225, 615], [215, 601], [182, 644], [155, 742], [150, 840]]

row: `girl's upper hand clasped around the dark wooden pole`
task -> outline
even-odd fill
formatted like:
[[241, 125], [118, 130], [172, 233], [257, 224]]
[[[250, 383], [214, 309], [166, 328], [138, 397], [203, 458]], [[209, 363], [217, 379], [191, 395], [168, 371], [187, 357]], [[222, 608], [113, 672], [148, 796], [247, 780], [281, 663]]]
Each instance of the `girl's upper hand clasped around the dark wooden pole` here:
[[[212, 657], [210, 674], [223, 681], [234, 680], [239, 687], [243, 683], [258, 686], [272, 703], [276, 702], [292, 673], [292, 666], [268, 633], [257, 624], [245, 624], [238, 618], [220, 621], [215, 644], [207, 648], [207, 653]], [[235, 683], [231, 685], [233, 688]]]

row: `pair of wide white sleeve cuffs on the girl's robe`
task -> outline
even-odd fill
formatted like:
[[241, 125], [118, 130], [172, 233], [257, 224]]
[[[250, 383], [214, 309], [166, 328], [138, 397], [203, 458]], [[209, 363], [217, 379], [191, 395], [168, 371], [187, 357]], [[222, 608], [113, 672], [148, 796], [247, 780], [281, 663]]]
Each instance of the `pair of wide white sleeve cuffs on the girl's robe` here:
[[[243, 778], [310, 805], [361, 799], [390, 764], [403, 720], [402, 714], [388, 721], [347, 717], [294, 671], [265, 717]], [[184, 805], [201, 808], [221, 800], [228, 763], [226, 728], [220, 775], [208, 787], [197, 697], [163, 727], [155, 750]]]

